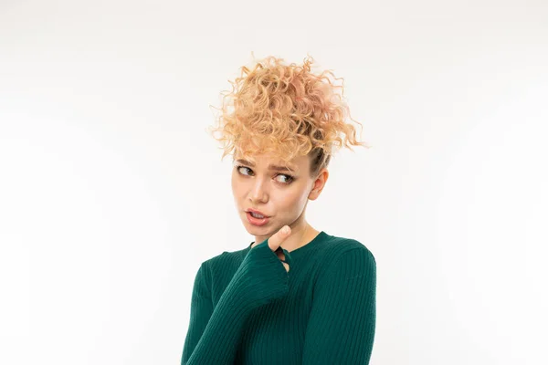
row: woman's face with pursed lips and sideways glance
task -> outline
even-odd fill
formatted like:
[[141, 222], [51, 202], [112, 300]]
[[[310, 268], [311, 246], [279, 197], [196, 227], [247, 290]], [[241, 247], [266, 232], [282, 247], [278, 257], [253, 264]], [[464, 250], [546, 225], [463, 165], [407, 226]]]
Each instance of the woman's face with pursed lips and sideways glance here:
[[[294, 232], [306, 222], [304, 211], [309, 200], [321, 193], [327, 172], [312, 179], [310, 158], [299, 156], [288, 164], [290, 170], [281, 170], [283, 162], [272, 155], [253, 156], [253, 161], [243, 161], [237, 155], [233, 162], [232, 193], [237, 212], [256, 242], [274, 235], [285, 224]], [[278, 166], [278, 167], [277, 167]], [[264, 220], [248, 216], [255, 209], [268, 217]]]

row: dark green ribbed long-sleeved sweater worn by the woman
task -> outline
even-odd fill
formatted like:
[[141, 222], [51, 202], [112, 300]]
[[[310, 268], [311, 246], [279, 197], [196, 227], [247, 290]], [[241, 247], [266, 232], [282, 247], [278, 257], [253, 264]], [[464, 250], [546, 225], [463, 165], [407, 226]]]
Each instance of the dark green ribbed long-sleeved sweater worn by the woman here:
[[268, 240], [197, 270], [182, 365], [368, 364], [376, 262], [360, 242], [321, 231], [291, 252]]

